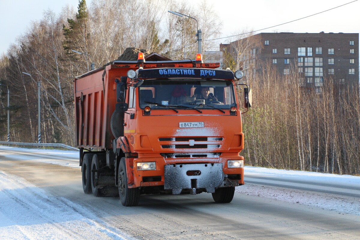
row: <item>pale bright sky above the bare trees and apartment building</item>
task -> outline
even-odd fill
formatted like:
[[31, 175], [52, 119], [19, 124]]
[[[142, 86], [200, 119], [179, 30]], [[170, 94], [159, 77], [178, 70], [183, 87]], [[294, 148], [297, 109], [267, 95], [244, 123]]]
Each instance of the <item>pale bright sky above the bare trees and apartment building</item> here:
[[[351, 1], [354, 0], [206, 0], [208, 4], [213, 4], [213, 9], [223, 23], [221, 37], [239, 33], [245, 28], [260, 30], [275, 26]], [[195, 5], [199, 2], [199, 0], [189, 0], [189, 3]], [[42, 18], [45, 10], [50, 9], [59, 14], [66, 4], [77, 10], [78, 0], [0, 0], [0, 3], [0, 55], [2, 55], [6, 53], [10, 44], [16, 43], [18, 36], [26, 32], [31, 21]], [[89, 7], [91, 0], [87, 0], [86, 3]], [[360, 0], [357, 0], [325, 13], [260, 32], [359, 33], [359, 10]], [[228, 39], [219, 40], [223, 43], [227, 41]]]

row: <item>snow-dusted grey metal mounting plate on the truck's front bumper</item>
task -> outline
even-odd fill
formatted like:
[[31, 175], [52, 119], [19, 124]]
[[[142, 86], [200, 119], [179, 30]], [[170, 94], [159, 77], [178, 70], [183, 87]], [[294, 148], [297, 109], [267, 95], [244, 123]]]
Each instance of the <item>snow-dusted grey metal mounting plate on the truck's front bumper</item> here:
[[171, 164], [164, 167], [164, 189], [172, 189], [172, 194], [180, 194], [183, 189], [200, 188], [215, 193], [215, 188], [223, 180], [221, 163]]

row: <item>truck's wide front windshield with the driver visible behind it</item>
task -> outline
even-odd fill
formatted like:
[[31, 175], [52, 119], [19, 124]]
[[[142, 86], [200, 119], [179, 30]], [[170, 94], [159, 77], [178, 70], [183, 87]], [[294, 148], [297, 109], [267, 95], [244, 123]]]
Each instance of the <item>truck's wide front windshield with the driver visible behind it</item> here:
[[145, 80], [139, 86], [139, 103], [152, 109], [236, 107], [234, 85], [224, 80]]

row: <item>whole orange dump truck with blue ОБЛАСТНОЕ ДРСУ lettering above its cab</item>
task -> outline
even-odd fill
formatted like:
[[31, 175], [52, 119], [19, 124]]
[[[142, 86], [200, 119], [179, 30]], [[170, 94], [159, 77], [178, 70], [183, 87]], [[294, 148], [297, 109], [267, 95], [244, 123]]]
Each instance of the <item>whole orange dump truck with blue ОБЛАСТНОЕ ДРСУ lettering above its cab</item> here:
[[[161, 56], [161, 55], [160, 55]], [[199, 59], [198, 59], [199, 58]], [[74, 82], [77, 147], [86, 194], [212, 193], [233, 199], [244, 184], [242, 72], [197, 60], [114, 61]], [[244, 88], [244, 107], [251, 91]], [[242, 108], [242, 107], [241, 107]]]

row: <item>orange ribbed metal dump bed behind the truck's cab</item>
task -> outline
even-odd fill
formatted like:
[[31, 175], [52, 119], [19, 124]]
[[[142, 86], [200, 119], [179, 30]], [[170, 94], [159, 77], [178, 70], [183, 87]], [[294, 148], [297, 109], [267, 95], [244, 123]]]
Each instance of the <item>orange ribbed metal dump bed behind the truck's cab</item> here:
[[[192, 68], [195, 65], [190, 60], [144, 63], [144, 69], [174, 67]], [[202, 67], [217, 68], [219, 63], [204, 63]], [[78, 148], [112, 148], [114, 136], [111, 132], [111, 116], [116, 106], [115, 80], [126, 77], [130, 69], [138, 68], [135, 61], [114, 61], [111, 65], [75, 78], [74, 104]]]

